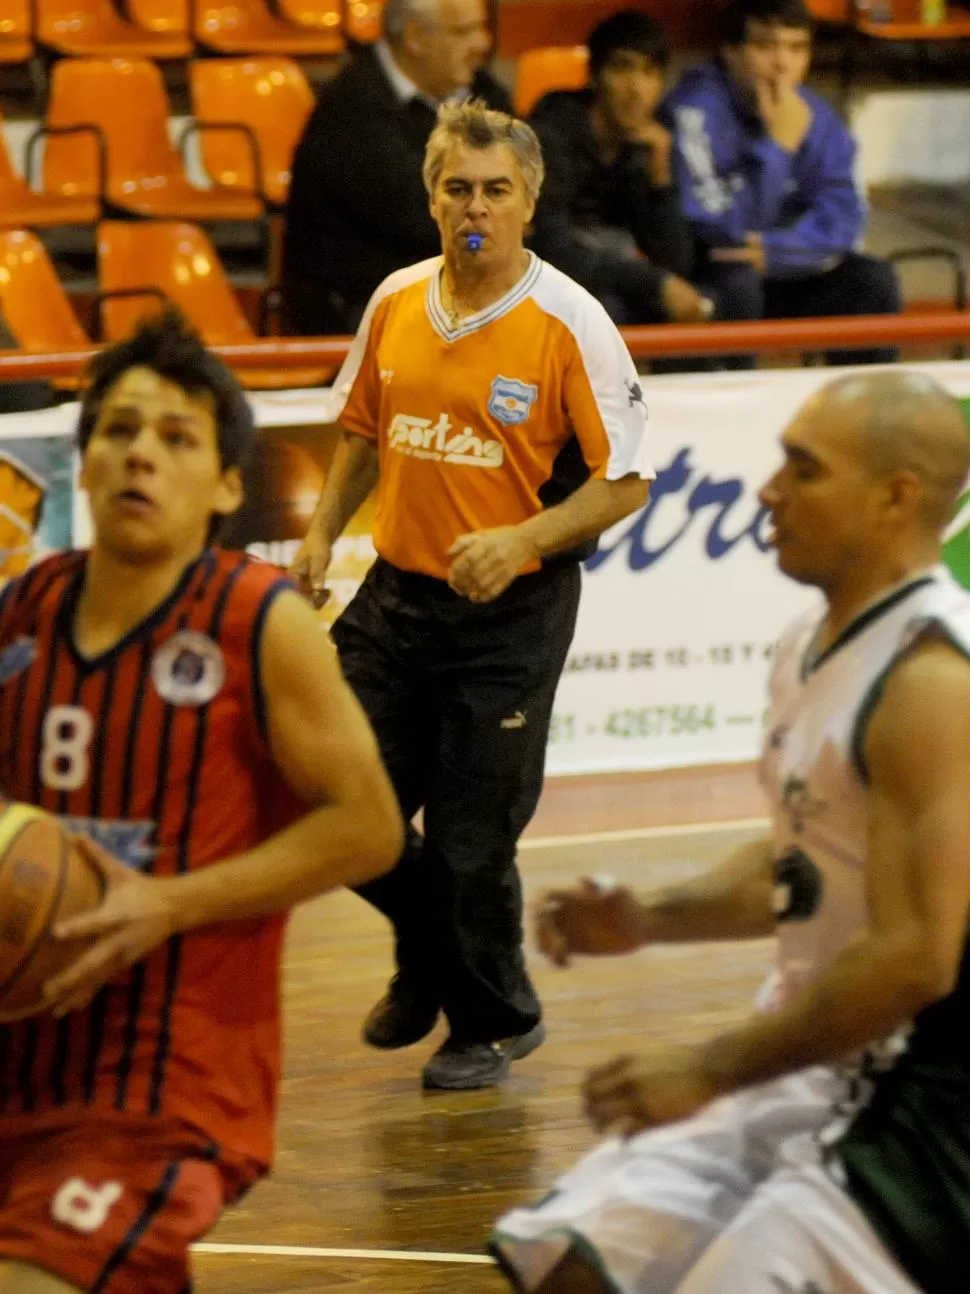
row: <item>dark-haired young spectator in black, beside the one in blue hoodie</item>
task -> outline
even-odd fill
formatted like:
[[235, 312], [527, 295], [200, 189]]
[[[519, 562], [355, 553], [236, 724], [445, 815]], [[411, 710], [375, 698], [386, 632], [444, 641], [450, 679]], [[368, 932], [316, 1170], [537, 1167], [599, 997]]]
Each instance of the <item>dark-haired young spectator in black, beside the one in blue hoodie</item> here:
[[612, 14], [590, 34], [590, 84], [552, 91], [532, 114], [546, 182], [533, 246], [605, 305], [616, 324], [695, 322], [713, 304], [687, 282], [693, 234], [656, 120], [670, 62], [658, 22]]

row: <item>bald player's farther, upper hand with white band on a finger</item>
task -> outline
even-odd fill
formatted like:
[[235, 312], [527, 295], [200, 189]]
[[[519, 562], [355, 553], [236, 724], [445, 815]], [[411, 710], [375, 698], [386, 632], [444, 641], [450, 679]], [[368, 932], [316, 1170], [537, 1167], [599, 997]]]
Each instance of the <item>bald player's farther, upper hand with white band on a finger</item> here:
[[568, 890], [551, 890], [535, 905], [539, 950], [557, 967], [573, 954], [603, 956], [632, 952], [643, 943], [636, 895], [609, 879], [585, 880]]

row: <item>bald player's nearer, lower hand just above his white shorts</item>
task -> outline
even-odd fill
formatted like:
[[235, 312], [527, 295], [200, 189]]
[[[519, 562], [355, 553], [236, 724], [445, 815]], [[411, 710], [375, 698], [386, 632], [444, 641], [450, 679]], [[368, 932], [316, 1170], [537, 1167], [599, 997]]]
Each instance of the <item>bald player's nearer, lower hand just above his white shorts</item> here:
[[695, 1048], [666, 1043], [598, 1065], [583, 1083], [592, 1126], [620, 1136], [689, 1118], [719, 1095]]

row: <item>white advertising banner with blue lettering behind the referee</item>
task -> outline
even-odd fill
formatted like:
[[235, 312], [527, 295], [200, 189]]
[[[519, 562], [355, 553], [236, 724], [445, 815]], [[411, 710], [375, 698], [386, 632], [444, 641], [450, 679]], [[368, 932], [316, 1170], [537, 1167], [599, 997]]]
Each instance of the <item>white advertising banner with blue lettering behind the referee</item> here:
[[[970, 399], [970, 364], [914, 367]], [[832, 369], [795, 369], [645, 380], [657, 481], [647, 509], [603, 537], [583, 573], [576, 639], [556, 697], [550, 774], [758, 753], [775, 643], [788, 620], [817, 598], [777, 572], [758, 490], [780, 463], [786, 423], [833, 375]], [[304, 428], [313, 444], [312, 428], [330, 419], [327, 391], [259, 395], [252, 404], [260, 427]], [[70, 433], [75, 419], [75, 405], [10, 414], [0, 417], [0, 437]], [[303, 533], [312, 511], [322, 477], [308, 476], [307, 465], [291, 487], [294, 528], [285, 528], [279, 542], [253, 545], [273, 560], [290, 559], [299, 538], [288, 536]], [[285, 488], [282, 476], [270, 475]], [[338, 553], [341, 602], [372, 556], [366, 529], [352, 533]], [[80, 506], [75, 543], [87, 540]], [[965, 541], [970, 571], [970, 531]]]

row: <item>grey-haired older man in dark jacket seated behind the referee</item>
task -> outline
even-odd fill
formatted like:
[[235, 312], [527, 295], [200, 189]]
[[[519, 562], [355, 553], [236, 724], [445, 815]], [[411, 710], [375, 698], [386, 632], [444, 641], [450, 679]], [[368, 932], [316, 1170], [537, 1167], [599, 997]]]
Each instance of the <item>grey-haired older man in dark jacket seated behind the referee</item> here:
[[383, 25], [322, 87], [296, 148], [283, 254], [294, 333], [356, 331], [378, 283], [441, 250], [422, 180], [437, 105], [473, 94], [511, 111], [481, 70], [484, 0], [388, 0]]

